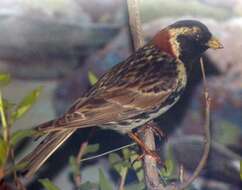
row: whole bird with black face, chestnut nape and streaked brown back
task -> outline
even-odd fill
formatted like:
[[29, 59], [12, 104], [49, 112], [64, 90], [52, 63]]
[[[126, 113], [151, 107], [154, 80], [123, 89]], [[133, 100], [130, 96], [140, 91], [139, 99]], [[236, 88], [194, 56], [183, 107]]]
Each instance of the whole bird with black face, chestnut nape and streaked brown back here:
[[20, 161], [26, 164], [24, 176], [32, 177], [81, 128], [97, 126], [129, 134], [151, 154], [132, 130], [161, 116], [179, 100], [194, 60], [209, 48], [223, 45], [200, 21], [180, 20], [163, 28], [101, 76], [66, 113], [35, 127], [46, 137]]

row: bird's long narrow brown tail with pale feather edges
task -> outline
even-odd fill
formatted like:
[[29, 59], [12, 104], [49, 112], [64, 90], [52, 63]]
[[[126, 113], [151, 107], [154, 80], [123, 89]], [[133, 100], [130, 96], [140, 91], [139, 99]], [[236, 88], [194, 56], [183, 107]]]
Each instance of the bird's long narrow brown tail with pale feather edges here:
[[[42, 125], [49, 125], [47, 122]], [[25, 165], [23, 175], [27, 178], [33, 174], [44, 164], [44, 162], [76, 131], [76, 129], [69, 129], [64, 131], [56, 131], [48, 134], [45, 139], [20, 163]]]

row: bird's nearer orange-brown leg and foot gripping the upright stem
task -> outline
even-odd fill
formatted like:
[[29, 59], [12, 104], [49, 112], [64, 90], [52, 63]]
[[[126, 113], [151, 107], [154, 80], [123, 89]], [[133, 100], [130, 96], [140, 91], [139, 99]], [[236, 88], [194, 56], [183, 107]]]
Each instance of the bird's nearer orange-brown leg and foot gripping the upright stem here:
[[[143, 149], [145, 154], [152, 156], [159, 164], [161, 164], [159, 155], [155, 151], [152, 151], [149, 148], [147, 148], [147, 146], [142, 142], [142, 140], [140, 140], [137, 133], [130, 132], [130, 133], [128, 133], [128, 135], [131, 139], [133, 139], [141, 147], [141, 149]], [[139, 156], [138, 159], [142, 159], [143, 157], [144, 157], [144, 154]]]

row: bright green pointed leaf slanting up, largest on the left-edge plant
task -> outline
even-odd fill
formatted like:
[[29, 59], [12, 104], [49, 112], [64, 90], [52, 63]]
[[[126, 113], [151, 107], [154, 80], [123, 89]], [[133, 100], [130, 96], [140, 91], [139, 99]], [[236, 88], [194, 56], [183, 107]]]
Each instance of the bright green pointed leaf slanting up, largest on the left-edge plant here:
[[38, 87], [23, 98], [23, 100], [17, 106], [15, 112], [12, 114], [11, 118], [13, 121], [21, 118], [26, 112], [30, 110], [33, 104], [37, 101], [37, 98], [39, 97], [42, 89], [43, 87]]

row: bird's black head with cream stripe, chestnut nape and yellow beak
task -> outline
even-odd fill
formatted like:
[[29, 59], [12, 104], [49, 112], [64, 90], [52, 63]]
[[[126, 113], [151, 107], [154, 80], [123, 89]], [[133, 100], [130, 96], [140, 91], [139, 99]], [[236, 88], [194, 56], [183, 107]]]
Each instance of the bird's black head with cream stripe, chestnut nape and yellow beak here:
[[193, 61], [208, 48], [223, 48], [208, 28], [195, 20], [178, 21], [160, 31], [152, 41], [159, 49], [183, 62]]

